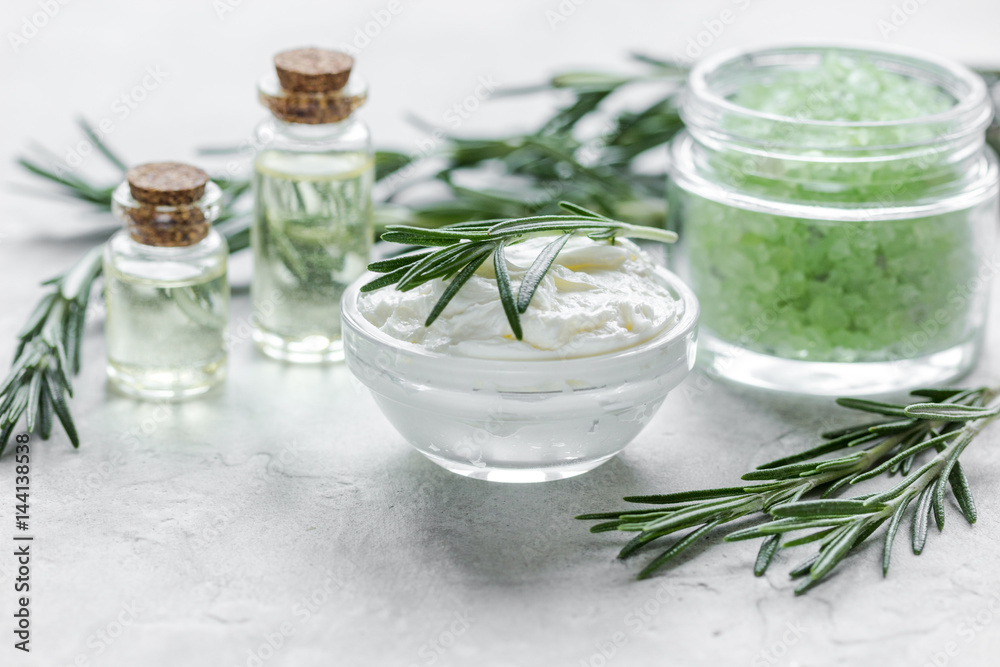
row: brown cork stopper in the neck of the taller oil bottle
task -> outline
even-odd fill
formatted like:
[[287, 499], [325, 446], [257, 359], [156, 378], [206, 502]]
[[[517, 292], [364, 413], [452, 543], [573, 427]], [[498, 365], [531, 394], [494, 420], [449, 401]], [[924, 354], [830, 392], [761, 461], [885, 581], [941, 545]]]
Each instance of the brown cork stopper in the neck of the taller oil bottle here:
[[261, 103], [286, 123], [337, 123], [365, 103], [368, 91], [357, 75], [354, 58], [329, 49], [282, 51], [274, 57], [277, 78], [259, 86]]

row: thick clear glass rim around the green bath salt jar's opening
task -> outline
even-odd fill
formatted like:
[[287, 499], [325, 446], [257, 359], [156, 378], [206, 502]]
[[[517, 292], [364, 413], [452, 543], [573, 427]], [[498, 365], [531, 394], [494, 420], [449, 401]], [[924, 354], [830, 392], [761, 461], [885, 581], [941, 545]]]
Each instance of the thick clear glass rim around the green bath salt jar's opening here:
[[[713, 88], [711, 76], [726, 65], [749, 61], [778, 58], [781, 56], [822, 56], [830, 52], [840, 52], [855, 56], [871, 56], [882, 62], [894, 62], [901, 68], [921, 69], [936, 73], [941, 79], [938, 85], [955, 99], [950, 108], [923, 116], [898, 120], [880, 121], [840, 121], [811, 120], [796, 118], [766, 111], [751, 109], [736, 104]], [[912, 73], [897, 72], [914, 77]], [[950, 85], [943, 85], [948, 83]], [[718, 118], [722, 114], [735, 115], [747, 119], [770, 121], [773, 123], [794, 123], [800, 127], [864, 130], [869, 128], [905, 127], [941, 123], [958, 126], [956, 133], [962, 136], [981, 132], [989, 124], [993, 115], [992, 102], [982, 78], [970, 68], [947, 58], [934, 56], [916, 49], [897, 46], [873, 45], [867, 42], [835, 42], [815, 44], [787, 44], [768, 47], [737, 48], [722, 51], [698, 61], [691, 69], [685, 90], [682, 114], [689, 127], [704, 126], [699, 120]], [[949, 137], [950, 138], [950, 137]], [[873, 147], [865, 147], [871, 149]]]

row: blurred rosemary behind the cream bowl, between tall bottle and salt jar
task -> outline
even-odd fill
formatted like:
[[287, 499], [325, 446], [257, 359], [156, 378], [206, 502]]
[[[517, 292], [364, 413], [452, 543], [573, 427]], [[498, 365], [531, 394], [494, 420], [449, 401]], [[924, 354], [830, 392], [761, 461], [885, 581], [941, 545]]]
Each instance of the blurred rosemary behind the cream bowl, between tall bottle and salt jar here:
[[[677, 96], [687, 69], [644, 55], [631, 58], [637, 73], [570, 71], [541, 85], [501, 91], [505, 96], [550, 93], [569, 99], [531, 132], [444, 135], [432, 154], [443, 158], [444, 166], [427, 176], [390, 178], [387, 182], [394, 188], [388, 201], [395, 203], [434, 181], [444, 185], [445, 197], [409, 201], [396, 211], [407, 224], [437, 226], [556, 213], [560, 201], [571, 200], [613, 218], [662, 225], [665, 171], [639, 169], [636, 159], [662, 147], [683, 128]], [[631, 93], [643, 86], [659, 92], [645, 106], [631, 108]], [[434, 129], [441, 136], [440, 129]], [[400, 160], [395, 169], [411, 162]], [[383, 175], [391, 176], [392, 171]], [[469, 185], [483, 176], [491, 187]], [[382, 207], [381, 212], [389, 210]]]

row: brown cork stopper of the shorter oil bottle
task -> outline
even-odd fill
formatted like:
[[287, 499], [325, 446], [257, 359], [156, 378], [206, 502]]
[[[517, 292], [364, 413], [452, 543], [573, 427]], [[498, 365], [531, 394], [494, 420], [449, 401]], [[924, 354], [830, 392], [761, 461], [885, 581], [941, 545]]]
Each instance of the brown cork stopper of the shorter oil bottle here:
[[[151, 162], [128, 170], [125, 183], [131, 202], [115, 193], [115, 210], [137, 243], [160, 247], [194, 245], [208, 236], [212, 210], [201, 205], [208, 174], [179, 162]], [[217, 207], [216, 207], [217, 208]]]

